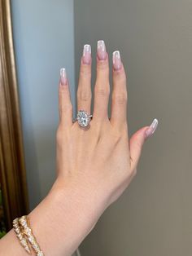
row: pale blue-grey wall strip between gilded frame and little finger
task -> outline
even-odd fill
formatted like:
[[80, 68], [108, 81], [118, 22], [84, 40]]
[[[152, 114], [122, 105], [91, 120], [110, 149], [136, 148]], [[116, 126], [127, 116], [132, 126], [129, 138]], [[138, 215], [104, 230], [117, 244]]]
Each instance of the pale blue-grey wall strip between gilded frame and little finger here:
[[74, 103], [71, 0], [12, 0], [13, 35], [30, 208], [55, 179], [59, 68], [66, 67]]

